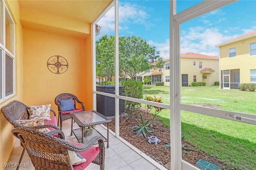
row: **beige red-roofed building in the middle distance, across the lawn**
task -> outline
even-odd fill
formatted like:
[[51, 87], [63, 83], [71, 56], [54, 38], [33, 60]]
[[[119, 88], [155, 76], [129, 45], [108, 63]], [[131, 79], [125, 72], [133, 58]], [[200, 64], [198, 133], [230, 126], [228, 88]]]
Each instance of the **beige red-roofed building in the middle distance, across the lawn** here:
[[[150, 70], [139, 76], [137, 80], [143, 80], [145, 76], [150, 76], [151, 84], [164, 82], [164, 86], [170, 86], [170, 60], [164, 59], [164, 67]], [[206, 86], [214, 85], [219, 81], [219, 57], [202, 55], [196, 53], [185, 53], [180, 55], [181, 63], [181, 84], [189, 86], [192, 82], [206, 82]]]

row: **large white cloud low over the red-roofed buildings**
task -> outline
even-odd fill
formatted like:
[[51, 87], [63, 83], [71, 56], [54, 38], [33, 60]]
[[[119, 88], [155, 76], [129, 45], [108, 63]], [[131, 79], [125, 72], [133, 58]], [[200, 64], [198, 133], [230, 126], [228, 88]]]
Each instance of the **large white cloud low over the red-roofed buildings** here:
[[[243, 29], [245, 33], [255, 30]], [[198, 53], [204, 55], [219, 56], [219, 48], [215, 47], [224, 41], [238, 37], [239, 35], [227, 35], [221, 33], [217, 28], [191, 27], [188, 31], [181, 31], [180, 35], [180, 53]], [[164, 59], [170, 55], [170, 40], [166, 39], [163, 43], [157, 43], [152, 40], [147, 41], [149, 45], [155, 46], [156, 51], [160, 51], [160, 56]]]

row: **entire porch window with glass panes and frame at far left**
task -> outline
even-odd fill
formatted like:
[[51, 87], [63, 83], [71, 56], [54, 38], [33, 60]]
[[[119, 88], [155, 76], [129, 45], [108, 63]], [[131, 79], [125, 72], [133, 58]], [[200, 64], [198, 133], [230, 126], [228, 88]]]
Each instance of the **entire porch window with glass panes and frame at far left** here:
[[0, 101], [12, 96], [15, 89], [14, 23], [4, 7], [4, 2], [0, 1]]

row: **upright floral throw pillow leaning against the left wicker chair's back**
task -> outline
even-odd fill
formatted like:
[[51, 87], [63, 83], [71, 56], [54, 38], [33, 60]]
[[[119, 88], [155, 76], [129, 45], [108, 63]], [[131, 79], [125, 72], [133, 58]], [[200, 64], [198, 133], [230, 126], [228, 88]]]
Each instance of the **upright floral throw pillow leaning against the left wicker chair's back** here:
[[49, 121], [50, 119], [50, 107], [51, 104], [39, 105], [39, 106], [28, 106], [29, 119], [43, 119]]

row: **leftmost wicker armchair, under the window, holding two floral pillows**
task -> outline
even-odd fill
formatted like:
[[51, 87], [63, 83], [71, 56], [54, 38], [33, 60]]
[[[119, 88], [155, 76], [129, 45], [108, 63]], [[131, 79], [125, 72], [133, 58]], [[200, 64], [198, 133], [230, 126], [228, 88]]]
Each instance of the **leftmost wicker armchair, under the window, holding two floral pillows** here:
[[[54, 119], [56, 119], [56, 113], [53, 109], [50, 109], [52, 113], [54, 114]], [[13, 127], [24, 127], [20, 125], [16, 120], [24, 120], [29, 119], [29, 112], [28, 112], [28, 106], [23, 104], [22, 102], [19, 102], [17, 100], [14, 100], [7, 104], [6, 106], [3, 106], [1, 108], [1, 112], [4, 115], [4, 117], [7, 119], [9, 123], [13, 125]], [[40, 129], [40, 128], [50, 128], [50, 129], [59, 129], [56, 125], [40, 125], [36, 127], [24, 127], [24, 128], [30, 128], [30, 129]], [[54, 133], [52, 133], [54, 134]], [[16, 136], [18, 137], [18, 136]], [[22, 143], [20, 144], [22, 147]], [[22, 158], [24, 156], [25, 149], [23, 148], [22, 154], [20, 156], [19, 165], [22, 161]], [[19, 169], [19, 166], [17, 166], [17, 170]]]

